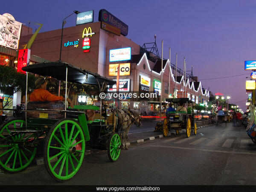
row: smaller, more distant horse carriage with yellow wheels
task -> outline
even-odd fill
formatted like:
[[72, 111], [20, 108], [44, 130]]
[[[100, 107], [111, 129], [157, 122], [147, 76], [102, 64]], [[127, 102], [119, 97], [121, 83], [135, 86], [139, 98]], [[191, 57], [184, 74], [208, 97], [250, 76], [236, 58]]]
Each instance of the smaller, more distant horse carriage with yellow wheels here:
[[[166, 99], [167, 102], [183, 105], [186, 103], [188, 106], [188, 111], [171, 111], [166, 115], [163, 121], [163, 135], [166, 137], [169, 130], [175, 129], [176, 134], [183, 128], [186, 129], [186, 136], [189, 137], [191, 131], [196, 135], [197, 128], [195, 123], [194, 114], [194, 102], [190, 101], [188, 98], [171, 98]], [[190, 106], [189, 106], [190, 105]]]

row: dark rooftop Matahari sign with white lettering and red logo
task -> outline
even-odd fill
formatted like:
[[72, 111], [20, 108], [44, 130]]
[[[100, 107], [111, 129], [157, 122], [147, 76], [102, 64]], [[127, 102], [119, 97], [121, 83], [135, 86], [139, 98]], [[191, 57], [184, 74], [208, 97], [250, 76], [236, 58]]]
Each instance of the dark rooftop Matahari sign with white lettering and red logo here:
[[113, 25], [121, 30], [121, 34], [128, 35], [128, 25], [113, 16], [110, 12], [105, 9], [99, 10], [99, 21], [104, 21], [110, 25]]

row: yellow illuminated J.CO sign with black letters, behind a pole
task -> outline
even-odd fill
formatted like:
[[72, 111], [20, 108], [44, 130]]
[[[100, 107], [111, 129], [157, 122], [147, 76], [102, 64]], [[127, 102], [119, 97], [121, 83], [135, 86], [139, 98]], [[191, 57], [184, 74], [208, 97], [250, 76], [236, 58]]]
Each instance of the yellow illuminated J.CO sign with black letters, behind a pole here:
[[119, 65], [119, 76], [129, 76], [131, 71], [131, 63], [109, 64], [108, 76], [117, 76], [117, 68]]

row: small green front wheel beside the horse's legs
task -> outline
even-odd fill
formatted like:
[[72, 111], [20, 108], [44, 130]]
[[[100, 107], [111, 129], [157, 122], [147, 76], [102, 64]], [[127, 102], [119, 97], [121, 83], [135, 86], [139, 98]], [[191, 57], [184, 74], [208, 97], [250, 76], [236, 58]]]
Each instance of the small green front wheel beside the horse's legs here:
[[112, 133], [110, 139], [108, 140], [108, 158], [115, 162], [121, 152], [121, 139], [119, 134]]

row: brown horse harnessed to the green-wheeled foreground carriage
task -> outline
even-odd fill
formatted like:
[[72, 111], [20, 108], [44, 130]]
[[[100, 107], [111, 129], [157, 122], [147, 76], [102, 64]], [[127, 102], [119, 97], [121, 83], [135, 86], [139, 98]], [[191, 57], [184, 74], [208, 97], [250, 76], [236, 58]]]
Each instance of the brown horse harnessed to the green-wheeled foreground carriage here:
[[116, 131], [121, 133], [122, 149], [128, 149], [127, 139], [131, 125], [134, 123], [141, 127], [140, 111], [134, 109], [114, 109], [113, 114], [117, 117]]

